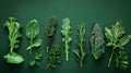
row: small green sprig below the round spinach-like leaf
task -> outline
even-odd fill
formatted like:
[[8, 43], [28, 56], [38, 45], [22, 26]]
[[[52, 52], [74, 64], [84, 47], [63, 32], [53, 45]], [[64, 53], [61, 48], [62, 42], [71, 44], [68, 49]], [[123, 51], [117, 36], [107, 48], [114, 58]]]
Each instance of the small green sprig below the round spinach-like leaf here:
[[31, 66], [34, 66], [35, 64], [36, 64], [36, 65], [40, 65], [40, 64], [39, 64], [39, 60], [40, 60], [41, 58], [43, 58], [43, 53], [41, 53], [41, 52], [36, 53], [36, 54], [35, 54], [35, 58], [29, 61], [29, 65], [31, 65]]

